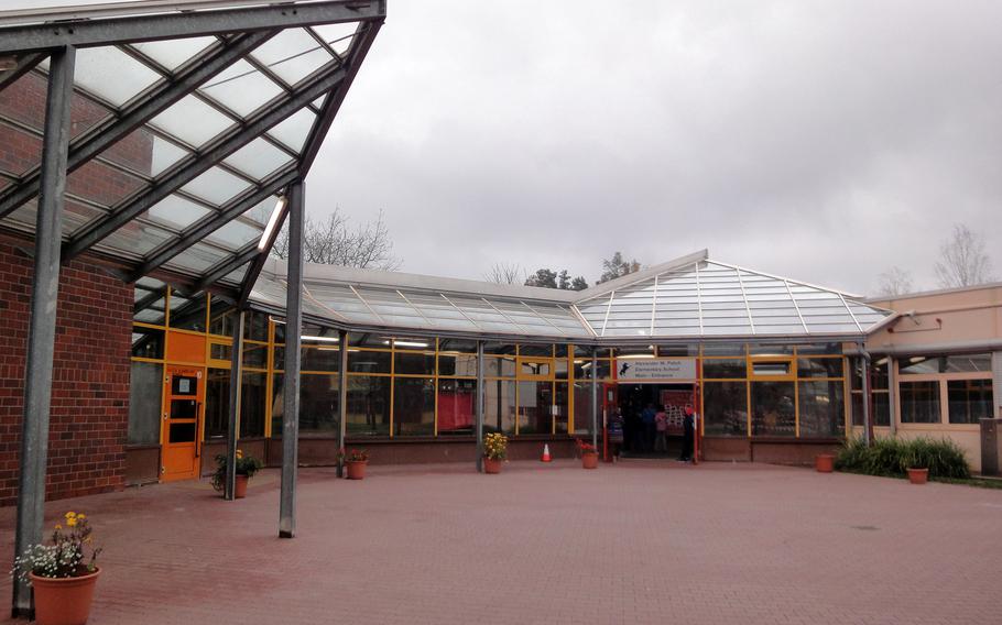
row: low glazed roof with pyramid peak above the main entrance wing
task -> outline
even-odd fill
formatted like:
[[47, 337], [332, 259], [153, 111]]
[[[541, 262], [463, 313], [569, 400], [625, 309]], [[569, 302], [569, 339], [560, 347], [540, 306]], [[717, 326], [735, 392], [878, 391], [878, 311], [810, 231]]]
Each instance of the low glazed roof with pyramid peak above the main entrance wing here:
[[[693, 259], [691, 256], [687, 259]], [[284, 266], [259, 277], [252, 305], [281, 314]], [[628, 339], [854, 340], [891, 312], [846, 294], [697, 256], [581, 293], [311, 265], [303, 311], [347, 328]]]

